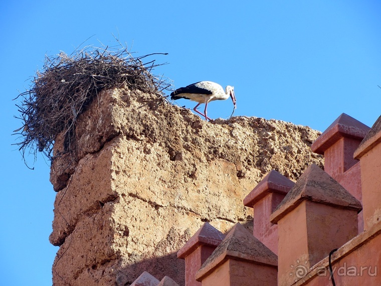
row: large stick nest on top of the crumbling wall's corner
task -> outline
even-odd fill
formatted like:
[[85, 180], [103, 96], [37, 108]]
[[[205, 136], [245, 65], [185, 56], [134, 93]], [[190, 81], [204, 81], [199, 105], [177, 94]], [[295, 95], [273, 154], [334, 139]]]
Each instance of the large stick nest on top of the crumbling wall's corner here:
[[[21, 93], [20, 116], [23, 126], [19, 146], [24, 160], [26, 155], [43, 152], [53, 158], [53, 144], [57, 134], [74, 134], [78, 115], [98, 92], [126, 84], [131, 89], [160, 94], [168, 84], [151, 74], [160, 65], [154, 60], [143, 63], [145, 55], [134, 58], [126, 48], [86, 48], [68, 56], [61, 52], [46, 56], [41, 72], [37, 72], [29, 90]], [[70, 151], [70, 146], [68, 147]]]

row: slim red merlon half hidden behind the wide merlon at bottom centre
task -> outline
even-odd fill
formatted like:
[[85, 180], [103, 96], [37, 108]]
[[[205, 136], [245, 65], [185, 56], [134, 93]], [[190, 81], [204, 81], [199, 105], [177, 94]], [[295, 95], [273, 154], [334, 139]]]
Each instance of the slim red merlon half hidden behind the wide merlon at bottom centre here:
[[185, 286], [201, 285], [201, 282], [196, 281], [196, 272], [224, 238], [221, 231], [206, 222], [178, 250], [177, 258], [185, 259]]

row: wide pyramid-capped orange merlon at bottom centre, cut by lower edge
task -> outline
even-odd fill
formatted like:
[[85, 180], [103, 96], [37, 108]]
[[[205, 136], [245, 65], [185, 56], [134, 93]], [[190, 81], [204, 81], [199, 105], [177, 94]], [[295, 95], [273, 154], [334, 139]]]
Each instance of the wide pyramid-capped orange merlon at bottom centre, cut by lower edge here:
[[276, 286], [277, 263], [277, 256], [237, 223], [196, 277], [205, 286]]

